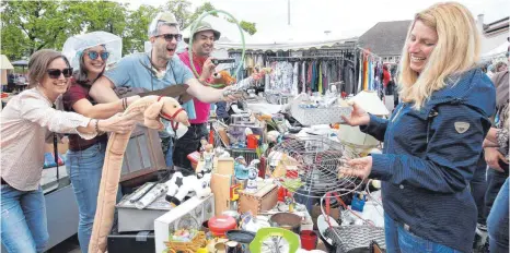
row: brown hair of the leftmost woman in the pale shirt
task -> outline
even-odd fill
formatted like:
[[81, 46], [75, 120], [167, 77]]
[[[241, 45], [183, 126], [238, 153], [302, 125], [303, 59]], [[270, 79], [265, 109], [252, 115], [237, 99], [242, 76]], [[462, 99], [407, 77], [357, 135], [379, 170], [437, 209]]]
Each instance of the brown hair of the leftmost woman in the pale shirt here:
[[58, 58], [63, 59], [68, 68], [70, 67], [69, 61], [62, 53], [51, 49], [40, 49], [32, 55], [28, 61], [30, 87], [35, 87], [43, 81], [49, 64]]

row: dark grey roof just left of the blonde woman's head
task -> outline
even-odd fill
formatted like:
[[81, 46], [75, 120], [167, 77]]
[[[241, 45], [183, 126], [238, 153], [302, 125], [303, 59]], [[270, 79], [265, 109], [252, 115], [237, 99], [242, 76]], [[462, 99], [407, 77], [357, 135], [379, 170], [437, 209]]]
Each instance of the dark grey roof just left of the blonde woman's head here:
[[379, 22], [359, 37], [359, 46], [380, 57], [399, 56], [412, 22]]

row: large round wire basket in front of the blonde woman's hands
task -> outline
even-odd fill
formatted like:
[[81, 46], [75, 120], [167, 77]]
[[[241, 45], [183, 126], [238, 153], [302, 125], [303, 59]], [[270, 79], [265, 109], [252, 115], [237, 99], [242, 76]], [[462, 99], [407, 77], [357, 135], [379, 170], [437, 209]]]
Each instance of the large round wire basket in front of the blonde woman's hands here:
[[339, 172], [346, 157], [344, 145], [326, 136], [286, 140], [275, 145], [266, 157], [266, 173], [301, 196], [321, 198], [332, 191], [345, 195], [362, 182]]

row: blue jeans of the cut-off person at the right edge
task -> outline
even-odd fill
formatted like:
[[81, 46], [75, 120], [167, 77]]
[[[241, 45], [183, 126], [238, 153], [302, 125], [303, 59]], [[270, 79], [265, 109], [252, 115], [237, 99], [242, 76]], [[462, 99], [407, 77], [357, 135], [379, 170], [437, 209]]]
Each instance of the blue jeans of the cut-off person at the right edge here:
[[487, 229], [489, 232], [489, 246], [491, 253], [508, 252], [508, 178], [499, 191], [492, 209], [487, 218]]

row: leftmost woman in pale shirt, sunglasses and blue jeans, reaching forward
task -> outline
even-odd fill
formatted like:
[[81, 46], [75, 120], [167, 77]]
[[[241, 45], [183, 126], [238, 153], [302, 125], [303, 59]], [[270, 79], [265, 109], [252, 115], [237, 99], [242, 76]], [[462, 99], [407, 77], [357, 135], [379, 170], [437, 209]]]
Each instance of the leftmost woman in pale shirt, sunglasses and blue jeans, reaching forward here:
[[39, 185], [46, 140], [53, 141], [53, 133], [74, 133], [83, 138], [97, 132], [126, 133], [135, 124], [130, 116], [96, 120], [54, 109], [60, 107], [57, 105], [61, 105], [71, 74], [60, 52], [35, 52], [28, 62], [32, 88], [12, 98], [0, 115], [1, 240], [8, 252], [44, 252], [48, 242]]

